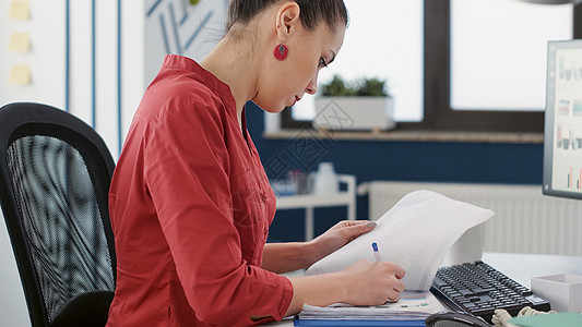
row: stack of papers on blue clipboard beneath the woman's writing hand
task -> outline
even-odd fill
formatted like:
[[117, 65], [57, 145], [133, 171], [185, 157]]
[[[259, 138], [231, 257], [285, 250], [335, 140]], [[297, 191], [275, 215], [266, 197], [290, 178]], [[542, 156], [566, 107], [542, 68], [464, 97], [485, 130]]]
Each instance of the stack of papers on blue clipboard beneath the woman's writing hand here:
[[444, 307], [430, 292], [404, 291], [396, 303], [379, 306], [354, 306], [336, 303], [329, 306], [304, 304], [299, 319], [328, 320], [424, 320]]

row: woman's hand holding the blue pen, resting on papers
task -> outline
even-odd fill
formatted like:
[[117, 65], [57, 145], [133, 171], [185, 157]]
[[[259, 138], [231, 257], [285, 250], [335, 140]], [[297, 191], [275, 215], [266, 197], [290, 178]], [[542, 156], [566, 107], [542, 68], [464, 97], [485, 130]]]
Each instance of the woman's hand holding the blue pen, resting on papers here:
[[388, 300], [400, 299], [405, 284], [405, 271], [390, 262], [359, 261], [338, 272], [344, 278], [344, 303], [354, 305], [381, 305]]

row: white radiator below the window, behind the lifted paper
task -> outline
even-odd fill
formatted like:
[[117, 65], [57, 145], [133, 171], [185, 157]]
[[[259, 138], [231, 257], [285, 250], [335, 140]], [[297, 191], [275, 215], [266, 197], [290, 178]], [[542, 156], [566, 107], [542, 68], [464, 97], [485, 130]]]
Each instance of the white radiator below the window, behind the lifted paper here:
[[484, 251], [582, 255], [582, 201], [543, 195], [541, 185], [377, 181], [361, 184], [358, 193], [369, 194], [375, 220], [416, 190], [494, 210], [485, 222]]

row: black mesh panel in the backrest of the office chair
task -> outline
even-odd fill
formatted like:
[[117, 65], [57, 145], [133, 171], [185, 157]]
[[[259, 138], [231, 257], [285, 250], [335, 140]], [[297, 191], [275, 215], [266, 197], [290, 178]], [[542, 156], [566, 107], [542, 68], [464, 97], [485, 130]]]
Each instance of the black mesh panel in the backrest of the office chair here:
[[81, 154], [55, 137], [15, 140], [8, 162], [51, 323], [74, 295], [115, 287], [94, 185]]

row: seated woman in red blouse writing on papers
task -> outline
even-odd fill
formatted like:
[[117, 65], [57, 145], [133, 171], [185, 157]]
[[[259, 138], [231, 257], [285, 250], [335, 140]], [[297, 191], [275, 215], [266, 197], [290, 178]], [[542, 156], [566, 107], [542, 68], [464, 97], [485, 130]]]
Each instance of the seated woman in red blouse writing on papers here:
[[399, 299], [402, 268], [359, 262], [286, 278], [373, 228], [340, 222], [306, 243], [266, 244], [275, 197], [245, 104], [278, 112], [317, 92], [343, 43], [342, 0], [234, 0], [226, 36], [197, 62], [167, 56], [145, 92], [109, 195], [117, 252], [108, 326], [248, 326], [304, 303]]

